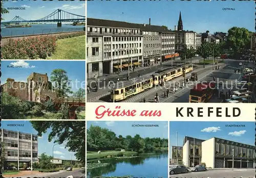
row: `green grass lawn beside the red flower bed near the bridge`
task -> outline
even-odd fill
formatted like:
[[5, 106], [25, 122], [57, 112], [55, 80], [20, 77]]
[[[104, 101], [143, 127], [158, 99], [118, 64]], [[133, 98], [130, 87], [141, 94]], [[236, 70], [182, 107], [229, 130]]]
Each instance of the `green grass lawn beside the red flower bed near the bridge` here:
[[58, 39], [55, 53], [47, 59], [86, 59], [86, 36]]

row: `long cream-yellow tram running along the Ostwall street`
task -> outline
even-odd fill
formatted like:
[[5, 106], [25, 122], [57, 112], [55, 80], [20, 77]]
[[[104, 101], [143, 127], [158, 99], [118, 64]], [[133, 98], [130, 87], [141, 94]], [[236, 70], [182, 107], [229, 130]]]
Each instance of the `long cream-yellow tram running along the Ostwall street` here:
[[193, 64], [186, 63], [185, 69], [185, 64], [182, 63], [173, 68], [159, 70], [152, 76], [140, 77], [131, 81], [119, 81], [111, 90], [111, 100], [121, 101], [130, 98], [155, 85], [160, 85], [163, 84], [163, 82], [182, 76], [183, 70], [185, 70], [186, 73], [193, 71]]

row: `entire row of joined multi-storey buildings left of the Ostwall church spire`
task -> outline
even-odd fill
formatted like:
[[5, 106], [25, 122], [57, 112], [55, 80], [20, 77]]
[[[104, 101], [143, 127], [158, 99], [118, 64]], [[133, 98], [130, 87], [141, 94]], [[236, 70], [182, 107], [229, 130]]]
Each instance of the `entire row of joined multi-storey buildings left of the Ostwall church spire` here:
[[172, 31], [149, 24], [87, 18], [87, 77], [161, 62], [174, 54]]

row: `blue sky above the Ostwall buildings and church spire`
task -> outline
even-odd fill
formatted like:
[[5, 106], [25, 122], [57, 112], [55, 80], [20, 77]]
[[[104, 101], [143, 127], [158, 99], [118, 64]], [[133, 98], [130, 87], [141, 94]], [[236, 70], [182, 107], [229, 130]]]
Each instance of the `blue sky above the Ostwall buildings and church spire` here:
[[[225, 11], [223, 8], [234, 8]], [[89, 1], [87, 15], [91, 18], [164, 25], [174, 30], [181, 11], [183, 29], [197, 33], [209, 30], [227, 32], [231, 27], [254, 30], [254, 1]]]

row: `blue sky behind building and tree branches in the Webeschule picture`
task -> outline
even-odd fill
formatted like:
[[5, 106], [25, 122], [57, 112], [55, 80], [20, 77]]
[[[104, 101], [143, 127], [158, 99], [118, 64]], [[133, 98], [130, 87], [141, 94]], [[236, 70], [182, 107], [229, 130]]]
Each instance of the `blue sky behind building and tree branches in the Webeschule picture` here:
[[[8, 126], [8, 124], [24, 124], [24, 126]], [[1, 128], [37, 135], [37, 131], [32, 127], [29, 121], [2, 121]], [[50, 132], [51, 128], [48, 129], [46, 133], [43, 133], [42, 137], [37, 139], [38, 155], [44, 152], [46, 152], [47, 155], [52, 155], [52, 147], [55, 144], [53, 143], [55, 139], [53, 139], [52, 142], [48, 142], [48, 135]], [[66, 143], [54, 146], [54, 158], [59, 158], [62, 160], [71, 160], [72, 158], [72, 160], [76, 160], [74, 155], [75, 152], [70, 152], [68, 148], [65, 148], [65, 144]]]

